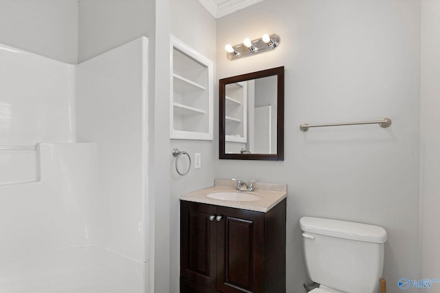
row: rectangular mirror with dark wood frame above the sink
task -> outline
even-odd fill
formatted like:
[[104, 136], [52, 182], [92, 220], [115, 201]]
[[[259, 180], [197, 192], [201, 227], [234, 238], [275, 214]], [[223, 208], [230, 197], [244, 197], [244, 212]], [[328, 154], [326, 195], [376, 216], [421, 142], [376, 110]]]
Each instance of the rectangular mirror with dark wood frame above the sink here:
[[220, 159], [284, 161], [284, 67], [219, 80]]

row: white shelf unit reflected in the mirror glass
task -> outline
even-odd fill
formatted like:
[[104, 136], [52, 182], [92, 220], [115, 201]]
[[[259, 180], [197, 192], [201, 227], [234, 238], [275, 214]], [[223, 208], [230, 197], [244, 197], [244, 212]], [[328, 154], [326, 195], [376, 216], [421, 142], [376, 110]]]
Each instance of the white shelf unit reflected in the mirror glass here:
[[248, 84], [236, 82], [225, 89], [225, 141], [248, 142]]

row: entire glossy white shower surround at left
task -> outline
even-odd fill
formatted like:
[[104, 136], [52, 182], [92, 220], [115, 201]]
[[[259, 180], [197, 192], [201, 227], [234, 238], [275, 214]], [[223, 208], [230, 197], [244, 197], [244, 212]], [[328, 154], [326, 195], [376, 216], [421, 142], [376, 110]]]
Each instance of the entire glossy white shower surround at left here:
[[148, 292], [147, 49], [0, 45], [0, 292]]

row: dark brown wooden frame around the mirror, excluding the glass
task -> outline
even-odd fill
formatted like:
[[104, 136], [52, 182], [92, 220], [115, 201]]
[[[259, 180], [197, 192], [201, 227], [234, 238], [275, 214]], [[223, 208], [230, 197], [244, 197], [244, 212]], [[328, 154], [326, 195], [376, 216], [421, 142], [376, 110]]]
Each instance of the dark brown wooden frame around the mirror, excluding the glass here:
[[[226, 129], [226, 84], [235, 82], [243, 82], [246, 80], [255, 80], [258, 78], [266, 78], [268, 76], [277, 76], [277, 98], [276, 98], [276, 154], [225, 154], [225, 129]], [[262, 160], [262, 161], [284, 161], [284, 67], [276, 67], [252, 73], [232, 76], [231, 78], [223, 78], [219, 80], [219, 141], [220, 141], [220, 159], [233, 160]]]

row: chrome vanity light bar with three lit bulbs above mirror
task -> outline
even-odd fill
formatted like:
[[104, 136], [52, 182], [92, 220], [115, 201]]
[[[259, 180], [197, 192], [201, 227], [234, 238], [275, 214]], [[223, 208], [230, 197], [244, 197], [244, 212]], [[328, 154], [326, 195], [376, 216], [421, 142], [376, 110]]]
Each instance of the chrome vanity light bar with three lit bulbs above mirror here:
[[245, 38], [242, 44], [234, 46], [226, 45], [226, 56], [229, 60], [235, 60], [260, 54], [275, 49], [280, 44], [280, 41], [281, 38], [276, 34], [263, 34], [261, 38], [256, 38], [255, 40]]

